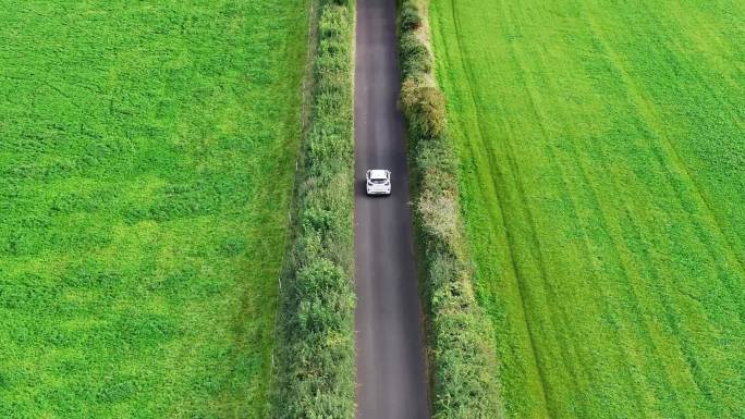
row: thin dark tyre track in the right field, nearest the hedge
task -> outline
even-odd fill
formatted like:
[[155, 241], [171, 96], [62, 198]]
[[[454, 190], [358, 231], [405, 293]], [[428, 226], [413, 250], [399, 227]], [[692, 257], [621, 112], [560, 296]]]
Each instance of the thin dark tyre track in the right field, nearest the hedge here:
[[[480, 146], [481, 146], [483, 150], [487, 151], [488, 155], [491, 155], [492, 153], [491, 148], [489, 147], [489, 145], [487, 145], [484, 141], [484, 138], [487, 138], [488, 135], [487, 135], [484, 126], [481, 125], [480, 121], [483, 121], [483, 115], [480, 115], [480, 112], [478, 110], [478, 106], [476, 104], [476, 98], [474, 96], [475, 90], [474, 90], [474, 82], [473, 82], [473, 76], [472, 76], [473, 70], [469, 67], [468, 62], [464, 59], [465, 49], [463, 48], [463, 45], [462, 45], [462, 30], [461, 30], [461, 26], [460, 26], [459, 16], [456, 13], [457, 8], [456, 8], [455, 2], [456, 2], [456, 0], [451, 0], [452, 22], [453, 22], [453, 25], [455, 28], [454, 39], [456, 42], [457, 50], [461, 51], [460, 64], [461, 64], [462, 69], [464, 70], [464, 73], [466, 74], [465, 81], [466, 81], [466, 85], [467, 85], [466, 90], [467, 90], [467, 95], [468, 95], [468, 101], [471, 102], [471, 104], [475, 111], [475, 114], [476, 114], [476, 125], [478, 128], [477, 137], [479, 138]], [[476, 149], [474, 149], [473, 143], [469, 139], [471, 136], [466, 135], [465, 137], [468, 138], [468, 147], [472, 149], [472, 153], [474, 156], [478, 156], [478, 151]], [[517, 263], [517, 260], [516, 260], [515, 255], [514, 255], [515, 245], [514, 245], [514, 241], [512, 238], [511, 229], [509, 227], [509, 223], [505, 220], [508, 214], [505, 213], [505, 210], [504, 210], [504, 208], [502, 208], [502, 204], [501, 204], [502, 198], [504, 197], [504, 194], [500, 193], [500, 188], [497, 185], [497, 183], [494, 182], [494, 180], [501, 180], [502, 175], [493, 167], [492, 161], [493, 161], [493, 156], [488, 156], [487, 159], [484, 160], [484, 162], [486, 163], [487, 172], [491, 173], [491, 175], [489, 177], [492, 180], [491, 186], [493, 187], [494, 195], [496, 195], [494, 201], [496, 201], [496, 205], [498, 207], [499, 214], [501, 217], [499, 217], [499, 220], [497, 220], [497, 217], [493, 214], [492, 211], [489, 211], [489, 217], [492, 219], [492, 223], [494, 225], [501, 225], [502, 226], [502, 229], [505, 233], [508, 243], [509, 243], [509, 248], [506, 251], [509, 254], [512, 272], [514, 273], [514, 279], [515, 279], [516, 284], [517, 284], [517, 292], [518, 292], [518, 295], [521, 298], [523, 317], [525, 319], [525, 326], [526, 326], [527, 332], [528, 332], [527, 333], [527, 337], [529, 341], [528, 344], [529, 344], [530, 350], [533, 353], [533, 358], [534, 358], [535, 366], [536, 366], [538, 377], [539, 377], [540, 391], [541, 391], [540, 398], [544, 402], [544, 405], [547, 406], [547, 410], [546, 410], [547, 418], [551, 418], [551, 410], [552, 409], [550, 408], [549, 399], [547, 397], [547, 391], [546, 391], [547, 381], [546, 381], [545, 371], [544, 371], [545, 368], [541, 365], [541, 360], [540, 360], [540, 357], [538, 356], [536, 344], [535, 344], [534, 338], [533, 338], [533, 335], [535, 333], [534, 326], [532, 325], [530, 321], [528, 320], [528, 316], [527, 316], [528, 311], [527, 311], [526, 307], [529, 307], [529, 303], [525, 296], [526, 291], [524, 288], [524, 283], [521, 279], [518, 263]]]

